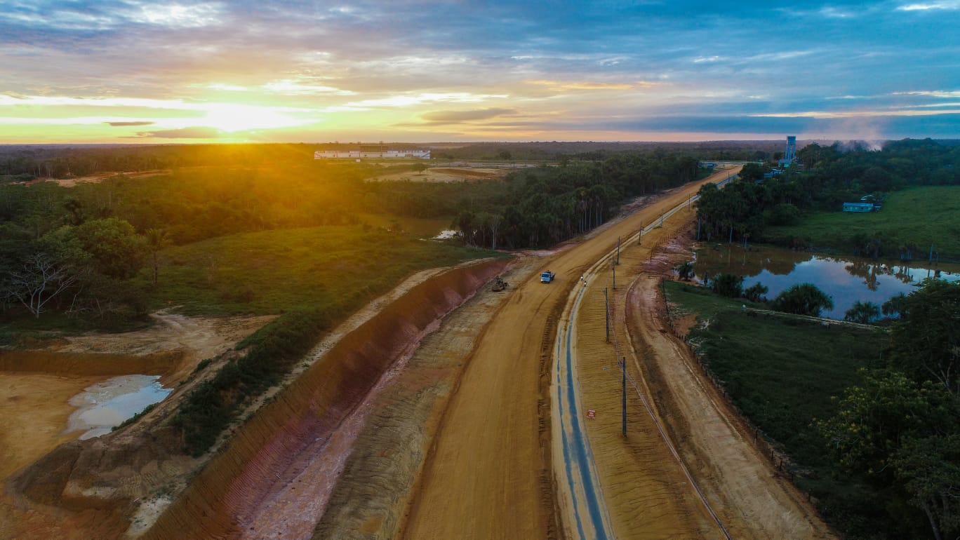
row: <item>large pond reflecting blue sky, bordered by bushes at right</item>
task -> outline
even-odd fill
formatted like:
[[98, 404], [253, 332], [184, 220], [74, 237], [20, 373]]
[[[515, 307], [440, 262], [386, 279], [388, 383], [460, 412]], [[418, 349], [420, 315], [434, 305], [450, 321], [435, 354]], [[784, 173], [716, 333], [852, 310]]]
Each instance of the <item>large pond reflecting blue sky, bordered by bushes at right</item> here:
[[909, 294], [927, 277], [960, 280], [960, 265], [941, 263], [927, 268], [925, 263], [720, 244], [697, 250], [693, 268], [697, 280], [724, 272], [742, 275], [744, 289], [761, 283], [769, 288], [768, 299], [799, 283], [812, 283], [833, 300], [833, 309], [821, 316], [841, 319], [857, 300], [879, 306], [898, 293]]

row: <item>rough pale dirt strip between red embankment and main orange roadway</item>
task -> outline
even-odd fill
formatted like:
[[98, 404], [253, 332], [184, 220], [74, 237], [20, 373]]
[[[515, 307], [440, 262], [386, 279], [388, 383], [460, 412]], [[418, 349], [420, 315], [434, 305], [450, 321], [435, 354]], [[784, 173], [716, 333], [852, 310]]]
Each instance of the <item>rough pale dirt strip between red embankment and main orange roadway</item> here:
[[[536, 260], [503, 274], [510, 284], [532, 279]], [[337, 483], [315, 538], [395, 538], [440, 415], [481, 339], [482, 329], [512, 293], [477, 293], [420, 342], [395, 384], [378, 399]]]

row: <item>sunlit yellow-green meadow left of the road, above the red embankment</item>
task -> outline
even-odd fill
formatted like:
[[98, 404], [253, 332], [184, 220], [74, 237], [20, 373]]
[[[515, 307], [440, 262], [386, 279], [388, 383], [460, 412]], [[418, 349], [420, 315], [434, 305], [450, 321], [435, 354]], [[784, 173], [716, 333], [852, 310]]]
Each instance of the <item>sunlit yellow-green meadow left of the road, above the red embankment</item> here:
[[[364, 301], [427, 268], [496, 256], [380, 228], [323, 226], [224, 236], [163, 252], [150, 307], [189, 315], [273, 314]], [[502, 256], [502, 255], [500, 255]]]

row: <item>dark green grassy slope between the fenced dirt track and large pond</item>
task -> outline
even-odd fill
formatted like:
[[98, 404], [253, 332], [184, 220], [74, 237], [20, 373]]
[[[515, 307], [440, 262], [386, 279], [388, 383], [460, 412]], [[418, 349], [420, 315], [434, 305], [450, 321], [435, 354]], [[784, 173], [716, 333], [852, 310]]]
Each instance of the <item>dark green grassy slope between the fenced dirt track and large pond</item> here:
[[665, 282], [664, 290], [680, 313], [698, 314], [701, 323], [690, 338], [704, 364], [723, 381], [733, 404], [791, 458], [796, 483], [849, 538], [872, 537], [876, 520], [886, 519], [883, 512], [871, 511], [869, 489], [835, 480], [824, 458], [826, 441], [810, 424], [834, 414], [831, 396], [859, 384], [859, 368], [881, 365], [887, 335], [751, 315], [740, 307], [742, 299], [679, 282]]

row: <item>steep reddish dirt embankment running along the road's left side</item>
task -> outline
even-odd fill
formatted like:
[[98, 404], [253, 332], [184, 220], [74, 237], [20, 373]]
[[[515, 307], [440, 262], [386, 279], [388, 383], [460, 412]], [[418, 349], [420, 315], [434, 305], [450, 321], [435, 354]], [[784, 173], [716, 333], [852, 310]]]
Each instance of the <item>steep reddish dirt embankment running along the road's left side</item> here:
[[259, 506], [283, 487], [299, 455], [324, 444], [398, 357], [507, 263], [445, 271], [345, 336], [233, 435], [145, 537], [239, 535]]

